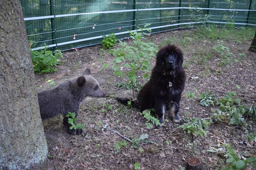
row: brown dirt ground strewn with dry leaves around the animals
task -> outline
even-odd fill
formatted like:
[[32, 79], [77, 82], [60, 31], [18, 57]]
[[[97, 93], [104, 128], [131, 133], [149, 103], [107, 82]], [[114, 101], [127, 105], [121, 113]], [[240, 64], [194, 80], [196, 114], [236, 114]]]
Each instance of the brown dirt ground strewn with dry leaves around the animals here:
[[[198, 101], [198, 95], [208, 91], [222, 97], [231, 90], [238, 94], [243, 104], [255, 105], [256, 55], [248, 52], [253, 37], [245, 41], [222, 39], [235, 56], [239, 54], [246, 56], [240, 61], [219, 66], [220, 58], [215, 53], [212, 59], [202, 64], [195, 59], [196, 55], [210, 52], [217, 41], [204, 36], [195, 39], [195, 36], [190, 36], [191, 34], [194, 34], [193, 30], [179, 30], [147, 37], [147, 41], [152, 41], [155, 45], [170, 42], [171, 38], [172, 43], [179, 45], [184, 52], [187, 80], [180, 102], [181, 118], [185, 118], [188, 112], [190, 113], [188, 117], [193, 115], [198, 118], [210, 118], [213, 114], [211, 107], [202, 107]], [[123, 78], [114, 76], [111, 67], [102, 69], [104, 63], [111, 64], [114, 58], [108, 50], [102, 50], [102, 45], [64, 52], [63, 56], [66, 61], [57, 67], [58, 71], [35, 75], [38, 90], [51, 88], [45, 80], [47, 78], [58, 85], [65, 79], [80, 75], [89, 67], [108, 96], [132, 97], [131, 90], [116, 87], [116, 83], [124, 82]], [[151, 66], [153, 65], [154, 57], [151, 61]], [[191, 78], [196, 76], [198, 78]], [[240, 88], [237, 88], [237, 85]], [[185, 95], [188, 90], [195, 92], [192, 102]], [[112, 105], [112, 109], [106, 105]], [[120, 105], [111, 97], [87, 98], [80, 105], [78, 118], [78, 123], [85, 125], [82, 135], [67, 134], [61, 116], [43, 122], [49, 147], [45, 169], [134, 169], [136, 162], [141, 164], [141, 169], [180, 169], [185, 167], [185, 163], [191, 157], [200, 158], [205, 169], [219, 169], [226, 164], [227, 158], [224, 154], [207, 152], [207, 149], [218, 148], [221, 143], [229, 143], [238, 154], [246, 151], [247, 157], [256, 156], [256, 142], [248, 143], [243, 127], [224, 122], [213, 123], [207, 129], [207, 136], [201, 138], [188, 134], [175, 125], [171, 116], [166, 115], [166, 119], [170, 121], [166, 122], [164, 127], [147, 129], [145, 119], [138, 110]], [[108, 123], [107, 128], [118, 131], [129, 139], [148, 134], [147, 142], [141, 143], [141, 149], [138, 149], [138, 147], [131, 148], [131, 144], [126, 141], [128, 146], [122, 146], [117, 151], [115, 142], [122, 142], [125, 139], [108, 129], [103, 129], [106, 123]], [[255, 129], [255, 121], [248, 120], [247, 123]], [[247, 169], [253, 168], [248, 166]]]

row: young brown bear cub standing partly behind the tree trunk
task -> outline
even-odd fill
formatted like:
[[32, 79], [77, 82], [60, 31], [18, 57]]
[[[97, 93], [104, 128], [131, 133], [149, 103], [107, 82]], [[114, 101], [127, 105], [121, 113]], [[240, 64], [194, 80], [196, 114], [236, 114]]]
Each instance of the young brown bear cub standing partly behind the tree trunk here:
[[82, 133], [82, 129], [70, 129], [68, 112], [75, 112], [76, 117], [79, 112], [80, 103], [86, 98], [105, 97], [106, 92], [99, 86], [98, 81], [91, 76], [91, 71], [87, 68], [82, 76], [68, 79], [60, 85], [38, 93], [38, 103], [42, 120], [53, 118], [57, 114], [63, 114], [63, 124], [72, 135]]

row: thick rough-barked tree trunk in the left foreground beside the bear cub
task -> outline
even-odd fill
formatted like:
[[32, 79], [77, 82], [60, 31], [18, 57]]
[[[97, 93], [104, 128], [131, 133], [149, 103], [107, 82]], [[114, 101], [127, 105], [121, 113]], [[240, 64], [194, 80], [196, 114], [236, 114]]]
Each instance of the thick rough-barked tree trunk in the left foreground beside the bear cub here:
[[0, 0], [0, 169], [39, 169], [47, 160], [22, 7]]

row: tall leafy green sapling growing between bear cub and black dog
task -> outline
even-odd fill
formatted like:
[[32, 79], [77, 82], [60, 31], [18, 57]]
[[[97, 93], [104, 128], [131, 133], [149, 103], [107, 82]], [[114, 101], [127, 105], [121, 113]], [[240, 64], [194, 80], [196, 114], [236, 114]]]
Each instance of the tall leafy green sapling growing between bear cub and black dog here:
[[146, 24], [144, 28], [138, 27], [141, 32], [129, 31], [131, 38], [134, 40], [133, 45], [130, 46], [128, 43], [119, 40], [121, 47], [109, 50], [109, 53], [115, 56], [113, 60], [114, 65], [111, 66], [114, 74], [121, 77], [127, 76], [127, 83], [131, 85], [133, 90], [133, 98], [135, 98], [134, 90], [140, 88], [138, 87], [140, 86], [140, 83], [138, 83], [140, 82], [138, 81], [138, 73], [144, 73], [140, 78], [144, 78], [144, 80], [148, 78], [149, 60], [157, 52], [154, 43], [145, 43], [143, 41], [145, 39], [144, 36], [148, 35], [143, 31], [151, 32], [149, 28], [146, 28], [148, 25], [150, 24]]

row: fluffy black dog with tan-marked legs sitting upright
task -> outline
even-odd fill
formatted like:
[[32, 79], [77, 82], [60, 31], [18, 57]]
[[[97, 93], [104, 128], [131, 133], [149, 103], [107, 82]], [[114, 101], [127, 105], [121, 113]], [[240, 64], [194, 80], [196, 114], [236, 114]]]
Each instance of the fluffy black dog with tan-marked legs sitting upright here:
[[[159, 122], [163, 123], [166, 110], [170, 110], [174, 123], [182, 124], [178, 116], [179, 102], [185, 87], [186, 73], [182, 67], [183, 52], [176, 45], [165, 45], [157, 52], [156, 65], [150, 80], [138, 94], [138, 101], [132, 101], [140, 111], [154, 108]], [[117, 98], [121, 104], [129, 99]]]

